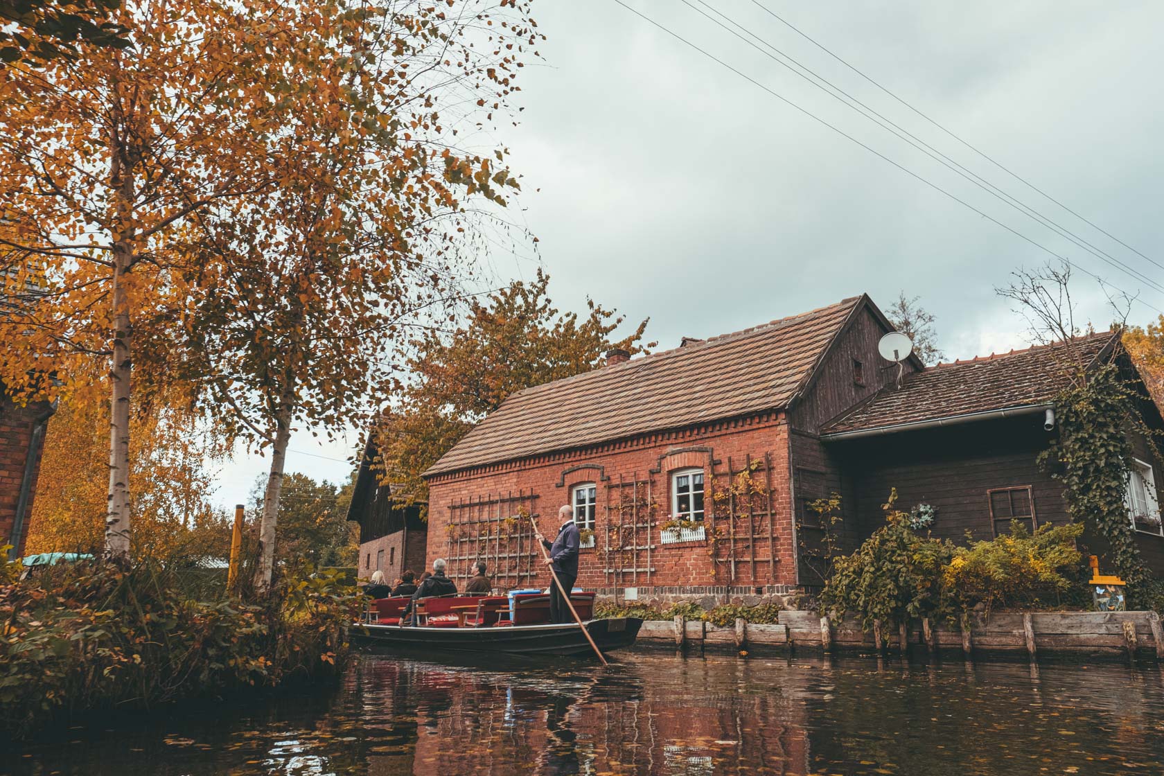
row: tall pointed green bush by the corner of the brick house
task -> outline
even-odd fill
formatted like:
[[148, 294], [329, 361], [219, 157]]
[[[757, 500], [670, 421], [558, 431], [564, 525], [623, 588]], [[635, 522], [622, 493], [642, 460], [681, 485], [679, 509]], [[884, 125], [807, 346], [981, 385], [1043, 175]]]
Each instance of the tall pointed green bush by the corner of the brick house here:
[[942, 569], [954, 555], [949, 541], [920, 536], [909, 527], [908, 513], [894, 508], [897, 491], [882, 505], [886, 525], [852, 555], [833, 561], [832, 575], [821, 591], [825, 610], [839, 617], [852, 612], [865, 629], [874, 620], [887, 626], [910, 618], [947, 613]]

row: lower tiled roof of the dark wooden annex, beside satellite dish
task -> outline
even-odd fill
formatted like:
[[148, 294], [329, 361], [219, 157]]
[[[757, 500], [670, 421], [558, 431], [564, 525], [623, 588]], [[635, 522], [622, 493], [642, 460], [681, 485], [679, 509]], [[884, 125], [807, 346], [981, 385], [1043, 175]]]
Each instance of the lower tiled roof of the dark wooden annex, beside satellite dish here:
[[821, 433], [868, 430], [1043, 404], [1066, 386], [1066, 364], [1092, 363], [1117, 336], [1102, 332], [1071, 340], [1066, 346], [1058, 342], [930, 366], [906, 375], [900, 389], [882, 389]]

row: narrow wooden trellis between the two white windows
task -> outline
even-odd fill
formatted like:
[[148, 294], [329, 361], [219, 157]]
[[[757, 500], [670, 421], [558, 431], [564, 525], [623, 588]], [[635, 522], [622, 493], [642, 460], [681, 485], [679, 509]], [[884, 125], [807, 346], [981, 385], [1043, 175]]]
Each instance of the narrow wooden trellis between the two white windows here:
[[603, 555], [608, 585], [648, 585], [655, 570], [654, 527], [659, 513], [658, 490], [651, 472], [629, 479], [611, 479], [606, 491], [606, 521]]

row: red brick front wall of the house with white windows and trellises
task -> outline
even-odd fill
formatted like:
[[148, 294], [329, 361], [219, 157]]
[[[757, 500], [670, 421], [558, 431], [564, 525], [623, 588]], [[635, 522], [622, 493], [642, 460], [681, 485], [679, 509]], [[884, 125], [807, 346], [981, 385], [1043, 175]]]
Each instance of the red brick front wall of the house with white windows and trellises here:
[[[752, 479], [764, 489], [764, 493], [750, 499], [751, 531], [746, 505], [726, 496], [729, 467], [739, 471], [750, 460], [759, 462]], [[766, 461], [771, 471], [766, 470]], [[660, 524], [672, 511], [669, 475], [688, 467], [704, 469], [709, 512], [705, 537], [662, 543]], [[534, 557], [538, 550], [531, 543], [527, 520], [505, 525], [499, 519], [520, 514], [518, 507], [525, 507], [538, 518], [541, 531], [552, 536], [558, 528], [558, 508], [570, 501], [572, 486], [595, 483], [596, 547], [582, 550], [580, 585], [606, 591], [637, 588], [640, 598], [660, 592], [753, 592], [755, 586], [767, 588], [766, 592], [772, 592], [773, 586], [782, 591], [796, 584], [788, 470], [785, 418], [781, 413], [765, 413], [441, 475], [430, 482], [428, 561], [445, 557], [452, 576], [463, 578], [469, 563], [480, 556], [489, 563], [501, 588], [546, 586], [549, 577], [540, 558]], [[722, 500], [712, 498], [714, 490], [723, 493]], [[516, 500], [519, 496], [520, 501]], [[768, 518], [758, 514], [769, 511], [769, 499], [775, 536], [772, 544]], [[715, 525], [723, 536], [709, 542], [712, 504], [719, 513]], [[731, 506], [738, 517], [729, 524], [724, 515]], [[617, 528], [620, 519], [622, 528]], [[471, 522], [467, 525], [466, 520]], [[450, 522], [457, 524], [455, 534], [448, 531]], [[636, 522], [639, 528], [633, 531], [632, 542], [631, 526]], [[750, 533], [754, 540], [747, 539]], [[618, 546], [619, 536], [627, 548], [623, 553], [609, 549], [609, 544]], [[709, 556], [712, 548], [719, 562]]]

